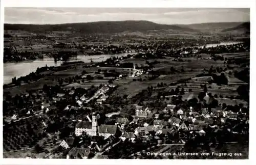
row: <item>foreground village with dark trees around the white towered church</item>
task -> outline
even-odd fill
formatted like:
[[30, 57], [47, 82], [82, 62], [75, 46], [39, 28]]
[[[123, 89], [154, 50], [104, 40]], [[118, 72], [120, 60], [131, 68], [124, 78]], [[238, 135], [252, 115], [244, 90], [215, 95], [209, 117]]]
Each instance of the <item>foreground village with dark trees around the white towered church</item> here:
[[[99, 65], [119, 67], [120, 60], [112, 58]], [[116, 106], [108, 99], [117, 90], [118, 84], [115, 85], [115, 81], [127, 77], [132, 79], [141, 77], [151, 70], [152, 68], [148, 67], [134, 69], [132, 74], [125, 76], [120, 74], [108, 80], [105, 85], [92, 85], [87, 89], [82, 89], [83, 86], [79, 85], [79, 82], [71, 82], [62, 87], [44, 85], [37, 94], [29, 92], [13, 98], [7, 97], [7, 101], [13, 100], [12, 102], [17, 106], [22, 104], [20, 101], [27, 102], [25, 107], [28, 108], [23, 108], [19, 113], [4, 118], [4, 121], [6, 125], [15, 126], [16, 123], [29, 118], [40, 118], [40, 122], [36, 124], [40, 126], [34, 126], [32, 129], [43, 130], [37, 138], [39, 141], [45, 139], [45, 142], [40, 146], [38, 142], [33, 141], [30, 148], [37, 148], [37, 154], [45, 153], [43, 156], [45, 158], [147, 158], [145, 152], [152, 148], [162, 151], [163, 147], [180, 146], [180, 149], [187, 150], [207, 146], [206, 148], [210, 150], [210, 148], [238, 143], [248, 138], [247, 103], [240, 101], [236, 106], [227, 106], [226, 103], [221, 104], [218, 101], [216, 103], [218, 96], [212, 96], [205, 86], [212, 80], [209, 76], [191, 79], [194, 84], [201, 83], [204, 92], [199, 93], [198, 96], [191, 93], [191, 90], [176, 87], [175, 90], [169, 90], [167, 94], [169, 96], [166, 94], [157, 96], [155, 99], [158, 101], [155, 100], [155, 104], [152, 104], [151, 99], [139, 104], [130, 101], [129, 105], [119, 102]], [[102, 71], [98, 70], [98, 72]], [[85, 75], [83, 78], [88, 79], [87, 73]], [[189, 84], [189, 81], [185, 83]], [[161, 83], [155, 87], [148, 87], [146, 91], [152, 93], [163, 86], [172, 88], [173, 85]], [[209, 85], [207, 87], [210, 90]], [[187, 97], [184, 97], [186, 95]], [[118, 96], [115, 97], [117, 101]], [[143, 97], [145, 96], [142, 95], [140, 99]], [[173, 104], [163, 101], [168, 97]], [[230, 100], [227, 97], [223, 99]], [[5, 132], [4, 140], [8, 141], [8, 135], [16, 136], [17, 134]], [[44, 149], [49, 139], [54, 145], [50, 149]], [[33, 145], [36, 146], [33, 147]], [[131, 146], [131, 150], [117, 150], [125, 145]], [[26, 145], [8, 141], [4, 148], [8, 153], [15, 148], [22, 149], [20, 146], [26, 147]], [[164, 148], [165, 151], [168, 149]], [[122, 154], [117, 154], [118, 151]], [[30, 157], [31, 155], [27, 155], [27, 158]]]

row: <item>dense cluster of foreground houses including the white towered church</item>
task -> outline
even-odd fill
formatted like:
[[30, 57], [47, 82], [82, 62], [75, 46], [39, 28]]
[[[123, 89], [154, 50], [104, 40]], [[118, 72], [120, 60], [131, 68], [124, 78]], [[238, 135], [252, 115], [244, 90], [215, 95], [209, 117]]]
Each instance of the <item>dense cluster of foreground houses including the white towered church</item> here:
[[[129, 140], [130, 142], [136, 142], [136, 139], [142, 139], [142, 143], [146, 143], [150, 140], [152, 132], [155, 132], [155, 137], [158, 143], [163, 143], [158, 135], [163, 135], [167, 137], [169, 134], [177, 133], [178, 131], [186, 131], [189, 133], [197, 133], [200, 136], [205, 135], [205, 128], [210, 126], [211, 128], [220, 128], [225, 125], [227, 119], [237, 120], [239, 118], [238, 113], [233, 113], [225, 109], [212, 108], [211, 113], [209, 113], [207, 108], [204, 108], [201, 113], [194, 111], [193, 107], [188, 109], [180, 108], [178, 111], [175, 109], [176, 105], [168, 104], [162, 111], [161, 115], [165, 119], [159, 120], [160, 113], [151, 111], [148, 107], [143, 107], [137, 105], [135, 107], [135, 116], [133, 120], [129, 121], [127, 118], [116, 118], [115, 125], [101, 124], [98, 125], [97, 120], [100, 118], [99, 115], [92, 115], [92, 119], [87, 116], [88, 121], [79, 121], [75, 126], [75, 135], [82, 136], [85, 132], [87, 135], [91, 136], [91, 144], [94, 145], [99, 152], [110, 149], [113, 145], [118, 145], [119, 142]], [[241, 113], [241, 112], [240, 112]], [[244, 114], [246, 115], [246, 114]], [[167, 120], [166, 120], [167, 117]], [[151, 124], [146, 122], [140, 123], [143, 119], [154, 119]], [[246, 123], [249, 122], [247, 118], [242, 118]], [[134, 128], [133, 132], [125, 131], [127, 125], [132, 123], [136, 124], [137, 127]], [[140, 123], [140, 124], [138, 124]], [[232, 129], [229, 131], [233, 133]], [[111, 139], [119, 139], [120, 141], [114, 143]], [[107, 147], [99, 145], [103, 141], [108, 141]], [[185, 140], [180, 137], [179, 141], [173, 143], [185, 143]], [[69, 148], [72, 145], [72, 140], [63, 140], [60, 144], [63, 148]], [[90, 153], [90, 148], [72, 148], [67, 155], [67, 158], [81, 157], [87, 158]], [[103, 155], [96, 154], [97, 157], [102, 157]], [[105, 156], [105, 155], [104, 155]], [[103, 156], [103, 157], [104, 157]]]

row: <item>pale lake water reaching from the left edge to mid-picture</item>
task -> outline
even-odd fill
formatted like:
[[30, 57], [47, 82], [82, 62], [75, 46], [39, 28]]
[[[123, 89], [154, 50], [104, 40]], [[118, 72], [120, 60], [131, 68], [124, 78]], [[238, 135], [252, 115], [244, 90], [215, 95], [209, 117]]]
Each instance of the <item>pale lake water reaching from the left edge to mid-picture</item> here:
[[[83, 61], [85, 63], [90, 63], [91, 60], [93, 62], [101, 62], [105, 61], [110, 57], [125, 57], [128, 54], [134, 53], [120, 53], [120, 54], [100, 54], [94, 56], [84, 56], [79, 55], [77, 56], [77, 60], [72, 61]], [[35, 72], [36, 69], [39, 67], [44, 66], [60, 66], [62, 64], [61, 61], [54, 62], [53, 58], [47, 58], [44, 60], [35, 60], [35, 61], [28, 61], [28, 62], [18, 62], [18, 63], [5, 63], [4, 64], [4, 84], [9, 84], [12, 82], [13, 77], [20, 77], [26, 76], [31, 72]]]

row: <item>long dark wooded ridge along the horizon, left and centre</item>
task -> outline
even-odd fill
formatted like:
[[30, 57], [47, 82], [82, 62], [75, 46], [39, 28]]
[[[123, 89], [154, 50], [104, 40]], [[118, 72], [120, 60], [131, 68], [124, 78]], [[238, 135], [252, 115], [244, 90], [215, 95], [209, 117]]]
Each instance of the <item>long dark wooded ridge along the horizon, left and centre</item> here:
[[100, 21], [66, 24], [4, 24], [4, 30], [20, 30], [34, 33], [72, 31], [84, 34], [121, 33], [125, 31], [147, 32], [151, 30], [173, 30], [175, 32], [199, 32], [178, 25], [158, 24], [150, 21]]

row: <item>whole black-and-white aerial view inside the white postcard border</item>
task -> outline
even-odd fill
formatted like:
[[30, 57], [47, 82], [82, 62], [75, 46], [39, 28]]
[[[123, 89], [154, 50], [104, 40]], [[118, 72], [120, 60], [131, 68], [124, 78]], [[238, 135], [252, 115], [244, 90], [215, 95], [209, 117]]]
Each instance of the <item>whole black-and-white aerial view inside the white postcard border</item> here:
[[249, 8], [5, 7], [3, 36], [4, 158], [249, 157]]

